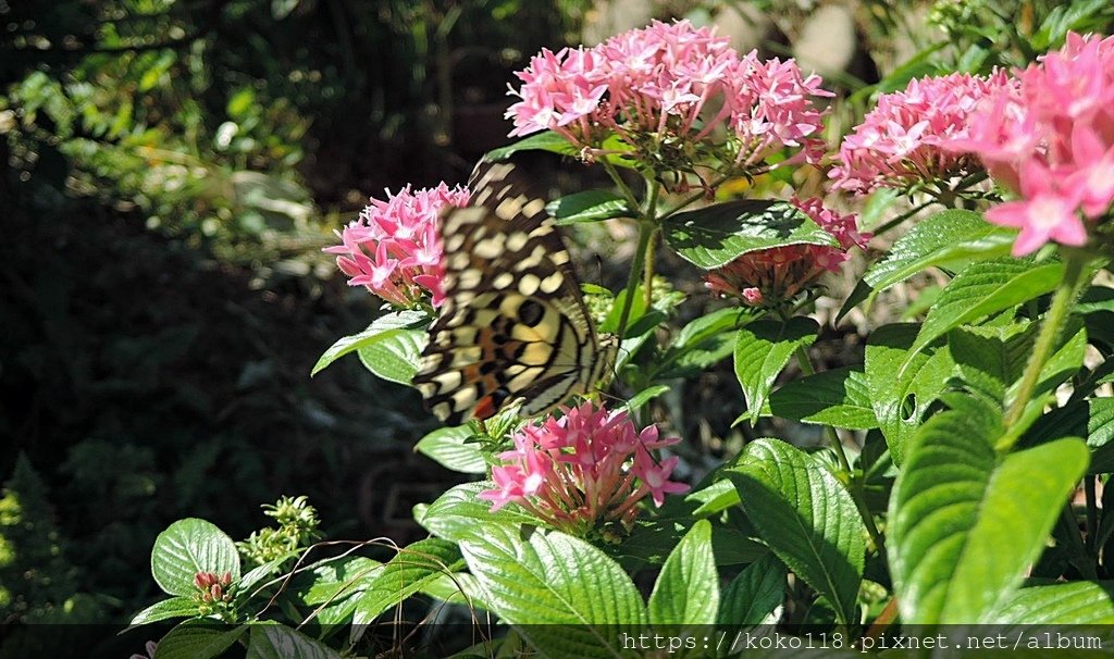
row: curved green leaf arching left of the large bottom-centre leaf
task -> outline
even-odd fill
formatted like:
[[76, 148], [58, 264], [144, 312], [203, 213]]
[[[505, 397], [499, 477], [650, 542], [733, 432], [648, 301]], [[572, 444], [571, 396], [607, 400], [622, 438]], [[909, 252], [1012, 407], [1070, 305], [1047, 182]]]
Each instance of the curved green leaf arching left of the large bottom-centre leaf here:
[[[437, 579], [463, 567], [457, 545], [440, 538], [419, 540], [403, 547], [374, 573], [356, 602], [352, 618], [353, 638], [356, 629], [371, 623], [380, 613]], [[359, 633], [363, 633], [361, 629]]]

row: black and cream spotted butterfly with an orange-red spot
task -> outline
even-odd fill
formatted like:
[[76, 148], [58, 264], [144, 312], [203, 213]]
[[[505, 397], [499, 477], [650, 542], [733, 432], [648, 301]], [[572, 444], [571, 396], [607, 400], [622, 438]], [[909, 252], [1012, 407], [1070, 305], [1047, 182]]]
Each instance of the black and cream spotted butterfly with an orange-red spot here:
[[413, 378], [449, 425], [517, 402], [520, 416], [548, 412], [604, 380], [617, 347], [596, 332], [545, 200], [522, 191], [515, 166], [481, 161], [469, 187], [469, 206], [441, 217], [446, 301]]

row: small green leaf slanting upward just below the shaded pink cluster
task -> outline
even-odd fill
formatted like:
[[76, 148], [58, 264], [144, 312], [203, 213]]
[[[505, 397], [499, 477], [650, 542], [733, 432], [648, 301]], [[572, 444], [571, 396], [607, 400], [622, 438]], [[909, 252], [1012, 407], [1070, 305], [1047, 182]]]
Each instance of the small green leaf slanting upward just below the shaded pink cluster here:
[[725, 360], [734, 348], [736, 328], [749, 319], [740, 308], [722, 308], [693, 319], [662, 355], [654, 377], [685, 377]]

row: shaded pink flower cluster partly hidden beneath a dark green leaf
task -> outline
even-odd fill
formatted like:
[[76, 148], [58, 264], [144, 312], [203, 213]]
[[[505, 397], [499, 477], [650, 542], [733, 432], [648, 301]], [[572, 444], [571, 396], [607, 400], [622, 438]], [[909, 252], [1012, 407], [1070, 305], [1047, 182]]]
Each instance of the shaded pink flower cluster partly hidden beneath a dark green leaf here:
[[870, 234], [860, 234], [854, 215], [825, 208], [819, 198], [791, 203], [831, 234], [839, 247], [785, 245], [747, 252], [727, 265], [704, 275], [704, 285], [721, 295], [737, 297], [743, 304], [776, 307], [814, 285], [825, 272], [839, 272], [853, 246], [866, 248]]

